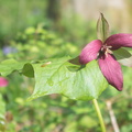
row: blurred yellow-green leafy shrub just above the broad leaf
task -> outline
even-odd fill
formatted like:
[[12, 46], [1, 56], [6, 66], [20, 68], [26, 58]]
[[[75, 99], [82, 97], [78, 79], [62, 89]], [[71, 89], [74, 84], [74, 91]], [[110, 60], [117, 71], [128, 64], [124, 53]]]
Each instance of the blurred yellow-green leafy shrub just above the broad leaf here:
[[15, 40], [11, 41], [11, 46], [18, 52], [8, 56], [16, 59], [34, 61], [65, 55], [75, 56], [78, 52], [76, 45], [65, 42], [55, 32], [45, 30], [43, 24], [38, 24], [37, 28], [28, 28], [19, 33]]

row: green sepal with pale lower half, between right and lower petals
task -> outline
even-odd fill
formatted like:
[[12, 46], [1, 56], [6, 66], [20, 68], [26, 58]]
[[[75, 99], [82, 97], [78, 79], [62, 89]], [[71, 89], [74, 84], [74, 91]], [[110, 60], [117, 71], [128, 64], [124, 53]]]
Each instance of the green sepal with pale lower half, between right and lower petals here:
[[119, 48], [117, 51], [113, 51], [113, 55], [120, 64], [132, 67], [132, 55], [127, 50]]

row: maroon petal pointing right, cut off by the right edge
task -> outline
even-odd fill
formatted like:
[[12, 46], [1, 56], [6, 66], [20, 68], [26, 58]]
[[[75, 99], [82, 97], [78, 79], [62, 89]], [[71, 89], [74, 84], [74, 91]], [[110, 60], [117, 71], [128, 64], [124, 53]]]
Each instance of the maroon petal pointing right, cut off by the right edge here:
[[119, 33], [109, 36], [105, 44], [112, 46], [111, 50], [118, 50], [122, 46], [132, 47], [132, 34]]

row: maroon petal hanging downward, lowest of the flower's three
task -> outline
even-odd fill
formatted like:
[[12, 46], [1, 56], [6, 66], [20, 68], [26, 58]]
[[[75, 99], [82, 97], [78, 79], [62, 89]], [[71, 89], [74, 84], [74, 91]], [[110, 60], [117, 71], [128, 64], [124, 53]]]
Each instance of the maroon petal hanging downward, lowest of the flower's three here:
[[116, 87], [118, 90], [123, 88], [123, 75], [120, 64], [116, 61], [114, 56], [108, 54], [108, 56], [101, 56], [99, 58], [99, 67], [108, 80], [108, 82]]

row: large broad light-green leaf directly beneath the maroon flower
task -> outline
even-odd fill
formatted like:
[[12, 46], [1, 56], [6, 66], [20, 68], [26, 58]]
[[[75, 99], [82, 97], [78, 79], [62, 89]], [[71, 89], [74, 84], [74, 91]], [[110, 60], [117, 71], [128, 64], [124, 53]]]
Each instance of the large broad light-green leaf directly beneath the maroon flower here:
[[34, 73], [35, 89], [29, 101], [51, 94], [61, 94], [75, 100], [91, 100], [98, 98], [108, 86], [97, 61], [78, 67], [63, 58], [53, 59], [44, 67], [42, 64], [34, 65]]

